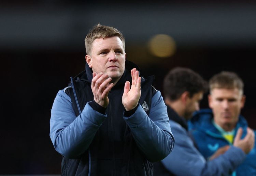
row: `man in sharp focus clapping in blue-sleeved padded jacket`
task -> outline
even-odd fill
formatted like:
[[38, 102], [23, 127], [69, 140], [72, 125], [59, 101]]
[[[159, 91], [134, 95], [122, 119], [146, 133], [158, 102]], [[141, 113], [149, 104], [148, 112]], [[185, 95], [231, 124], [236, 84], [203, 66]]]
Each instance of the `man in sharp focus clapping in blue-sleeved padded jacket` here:
[[153, 162], [174, 145], [160, 92], [152, 77], [139, 77], [139, 67], [126, 60], [117, 29], [95, 26], [85, 47], [85, 71], [58, 92], [51, 111], [62, 175], [152, 175]]

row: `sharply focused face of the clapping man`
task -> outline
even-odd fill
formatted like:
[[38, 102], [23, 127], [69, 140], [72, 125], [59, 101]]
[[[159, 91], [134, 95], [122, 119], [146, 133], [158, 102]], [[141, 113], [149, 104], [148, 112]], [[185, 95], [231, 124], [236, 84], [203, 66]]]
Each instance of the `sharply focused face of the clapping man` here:
[[97, 38], [91, 45], [90, 55], [86, 55], [86, 62], [97, 74], [108, 74], [112, 80], [119, 79], [125, 70], [123, 42], [118, 36]]

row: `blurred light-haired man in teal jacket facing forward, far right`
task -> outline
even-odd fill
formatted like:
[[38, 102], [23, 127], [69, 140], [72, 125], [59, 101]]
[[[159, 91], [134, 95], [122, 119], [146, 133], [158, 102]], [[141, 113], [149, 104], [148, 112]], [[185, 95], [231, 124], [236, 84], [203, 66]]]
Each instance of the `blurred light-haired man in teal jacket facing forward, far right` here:
[[[239, 142], [237, 137], [255, 147], [255, 131], [248, 128], [245, 118], [240, 115], [245, 102], [241, 78], [235, 73], [223, 71], [210, 79], [209, 86], [208, 101], [212, 110], [197, 112], [190, 125], [204, 158], [225, 145], [231, 148], [236, 146]], [[256, 154], [255, 148], [252, 148], [243, 149], [247, 156], [232, 175], [256, 175]], [[233, 155], [238, 158], [238, 152]]]

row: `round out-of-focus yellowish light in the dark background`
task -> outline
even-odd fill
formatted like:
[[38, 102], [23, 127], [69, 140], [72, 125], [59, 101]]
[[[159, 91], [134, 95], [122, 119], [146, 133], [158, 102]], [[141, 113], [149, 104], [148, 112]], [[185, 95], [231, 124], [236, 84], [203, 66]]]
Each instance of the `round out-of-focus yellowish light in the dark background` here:
[[174, 39], [166, 34], [157, 34], [148, 42], [150, 52], [161, 58], [171, 57], [176, 51]]

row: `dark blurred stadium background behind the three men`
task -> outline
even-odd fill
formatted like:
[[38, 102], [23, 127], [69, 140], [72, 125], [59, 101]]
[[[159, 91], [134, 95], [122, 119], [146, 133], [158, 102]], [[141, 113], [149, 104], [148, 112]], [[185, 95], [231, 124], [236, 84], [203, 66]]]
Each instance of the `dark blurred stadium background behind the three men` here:
[[60, 174], [61, 155], [49, 138], [51, 107], [58, 90], [84, 69], [84, 38], [97, 23], [124, 34], [127, 60], [142, 76], [155, 75], [160, 91], [176, 66], [206, 80], [235, 71], [245, 83], [242, 114], [256, 129], [255, 9], [246, 0], [1, 2], [0, 174]]

